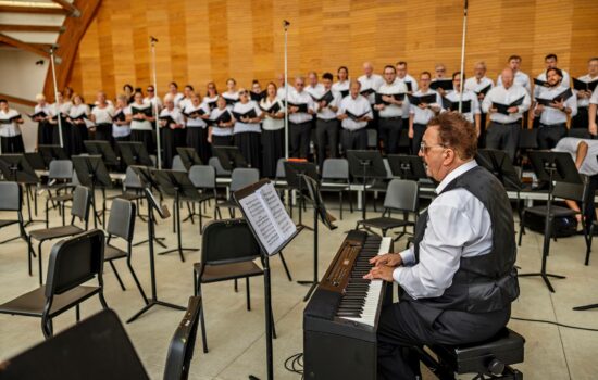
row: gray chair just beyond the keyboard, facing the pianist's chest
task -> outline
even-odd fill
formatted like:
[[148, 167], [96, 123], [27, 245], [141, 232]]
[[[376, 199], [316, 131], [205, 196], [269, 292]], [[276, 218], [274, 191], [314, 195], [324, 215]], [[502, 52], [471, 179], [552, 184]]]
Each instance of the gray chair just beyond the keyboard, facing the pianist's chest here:
[[[357, 227], [382, 230], [382, 236], [394, 228], [402, 227], [402, 231], [395, 240], [400, 239], [407, 232], [407, 227], [415, 227], [418, 212], [420, 210], [420, 188], [416, 181], [407, 179], [393, 179], [388, 182], [386, 197], [384, 198], [384, 211], [382, 216], [372, 219], [359, 220]], [[402, 214], [402, 218], [394, 218], [393, 212]], [[414, 220], [409, 220], [409, 214], [414, 215]]]

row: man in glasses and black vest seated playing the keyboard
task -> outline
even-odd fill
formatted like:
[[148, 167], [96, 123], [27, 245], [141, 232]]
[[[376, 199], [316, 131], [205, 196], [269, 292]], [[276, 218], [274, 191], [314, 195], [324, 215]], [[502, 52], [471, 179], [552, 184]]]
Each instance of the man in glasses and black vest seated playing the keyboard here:
[[500, 181], [475, 163], [476, 150], [463, 116], [428, 123], [419, 155], [439, 182], [437, 197], [418, 219], [413, 245], [372, 258], [365, 276], [402, 289], [379, 317], [378, 379], [415, 379], [414, 346], [484, 341], [509, 321], [519, 295], [513, 215]]

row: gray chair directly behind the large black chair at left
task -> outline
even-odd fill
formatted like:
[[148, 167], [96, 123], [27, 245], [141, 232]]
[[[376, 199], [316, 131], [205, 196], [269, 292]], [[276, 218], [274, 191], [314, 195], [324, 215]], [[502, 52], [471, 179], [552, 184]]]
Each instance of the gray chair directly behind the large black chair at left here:
[[[71, 224], [66, 226], [36, 229], [29, 232], [28, 243], [32, 246], [32, 240], [39, 241], [38, 243], [38, 259], [39, 259], [39, 284], [43, 283], [42, 268], [41, 268], [41, 244], [46, 240], [66, 238], [73, 235], [82, 233], [87, 230], [89, 221], [89, 207], [91, 205], [91, 191], [83, 186], [77, 186], [73, 192], [73, 207], [71, 208]], [[75, 219], [78, 218], [84, 223], [85, 227], [80, 228], [75, 226]], [[29, 276], [32, 275], [32, 254], [33, 246], [29, 254]]]

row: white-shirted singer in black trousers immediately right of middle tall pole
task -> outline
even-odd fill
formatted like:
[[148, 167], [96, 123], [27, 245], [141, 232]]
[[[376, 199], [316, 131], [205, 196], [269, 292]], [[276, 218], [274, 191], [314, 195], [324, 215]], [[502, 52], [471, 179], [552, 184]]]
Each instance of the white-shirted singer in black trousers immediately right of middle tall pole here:
[[306, 79], [302, 76], [296, 77], [295, 91], [288, 94], [289, 156], [299, 159], [308, 157], [311, 119], [315, 113], [313, 99], [303, 89], [304, 85]]

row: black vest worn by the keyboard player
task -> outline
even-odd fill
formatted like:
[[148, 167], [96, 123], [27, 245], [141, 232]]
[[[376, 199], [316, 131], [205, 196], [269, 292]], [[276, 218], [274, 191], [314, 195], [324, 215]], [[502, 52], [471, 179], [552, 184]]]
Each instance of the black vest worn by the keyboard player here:
[[[465, 189], [488, 211], [493, 248], [487, 254], [461, 257], [452, 284], [438, 297], [410, 300], [434, 308], [488, 313], [508, 307], [519, 296], [513, 213], [504, 188], [485, 168], [477, 166], [454, 178], [443, 192]], [[415, 259], [427, 226], [427, 211], [418, 219], [413, 239]], [[407, 294], [404, 294], [410, 299]]]

